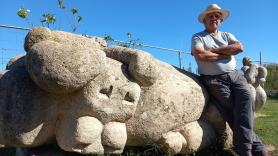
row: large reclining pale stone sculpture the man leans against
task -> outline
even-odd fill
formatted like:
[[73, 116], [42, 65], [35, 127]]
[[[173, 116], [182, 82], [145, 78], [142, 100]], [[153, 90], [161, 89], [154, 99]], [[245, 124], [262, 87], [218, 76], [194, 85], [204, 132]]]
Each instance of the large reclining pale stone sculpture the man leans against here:
[[81, 154], [119, 154], [150, 143], [185, 154], [212, 144], [213, 121], [199, 119], [208, 97], [196, 76], [144, 51], [103, 45], [32, 29], [27, 54], [0, 74], [0, 144], [56, 141]]

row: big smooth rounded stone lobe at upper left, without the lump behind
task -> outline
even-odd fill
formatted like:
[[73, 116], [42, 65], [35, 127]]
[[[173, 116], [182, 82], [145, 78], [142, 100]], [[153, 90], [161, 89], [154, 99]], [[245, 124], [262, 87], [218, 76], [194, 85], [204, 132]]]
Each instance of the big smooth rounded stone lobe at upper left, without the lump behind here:
[[42, 89], [65, 94], [84, 87], [105, 67], [105, 54], [53, 41], [41, 41], [26, 55], [31, 78]]

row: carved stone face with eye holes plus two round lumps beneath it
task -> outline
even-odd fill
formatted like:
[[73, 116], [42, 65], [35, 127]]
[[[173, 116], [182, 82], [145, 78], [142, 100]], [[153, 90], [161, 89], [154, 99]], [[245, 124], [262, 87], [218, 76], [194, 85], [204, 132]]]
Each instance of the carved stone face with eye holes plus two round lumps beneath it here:
[[107, 58], [104, 70], [68, 95], [59, 109], [64, 111], [56, 128], [59, 146], [84, 154], [121, 153], [127, 140], [125, 122], [135, 113], [140, 91], [127, 66]]

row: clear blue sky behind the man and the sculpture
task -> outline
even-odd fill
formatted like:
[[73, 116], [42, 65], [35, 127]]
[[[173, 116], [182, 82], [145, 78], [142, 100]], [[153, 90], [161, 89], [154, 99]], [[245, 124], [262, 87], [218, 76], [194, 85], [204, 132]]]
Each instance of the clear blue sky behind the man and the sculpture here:
[[[141, 43], [190, 52], [191, 36], [204, 29], [198, 15], [212, 3], [230, 11], [230, 17], [221, 25], [221, 31], [233, 33], [244, 45], [244, 52], [237, 59], [250, 56], [263, 61], [278, 63], [278, 1], [277, 0], [63, 0], [66, 11], [58, 8], [56, 0], [2, 0], [0, 24], [21, 27], [41, 26], [43, 13], [51, 12], [57, 17], [55, 27], [71, 31], [69, 9], [76, 7], [83, 21], [76, 33], [127, 40], [126, 33], [139, 38]], [[17, 16], [19, 8], [30, 9], [30, 23]], [[1, 58], [24, 53], [23, 41], [26, 31], [0, 28]], [[6, 49], [6, 50], [3, 50]], [[178, 66], [174, 52], [143, 49], [154, 57]], [[2, 59], [1, 59], [2, 60]], [[183, 66], [196, 63], [191, 55], [183, 56]], [[238, 66], [241, 67], [241, 60]], [[0, 63], [2, 69], [2, 63]]]

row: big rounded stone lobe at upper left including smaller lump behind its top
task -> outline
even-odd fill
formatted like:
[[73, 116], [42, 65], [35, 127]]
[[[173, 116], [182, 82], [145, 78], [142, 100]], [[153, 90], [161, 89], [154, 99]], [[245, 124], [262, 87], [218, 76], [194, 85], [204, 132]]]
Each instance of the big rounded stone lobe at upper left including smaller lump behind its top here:
[[105, 54], [96, 42], [70, 33], [35, 28], [26, 37], [25, 49], [31, 78], [51, 93], [76, 91], [105, 67]]

